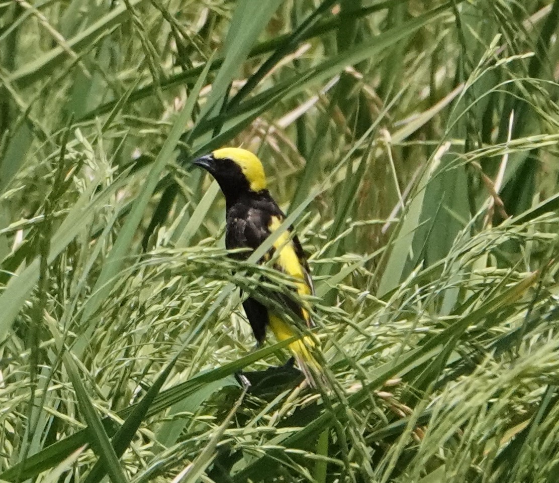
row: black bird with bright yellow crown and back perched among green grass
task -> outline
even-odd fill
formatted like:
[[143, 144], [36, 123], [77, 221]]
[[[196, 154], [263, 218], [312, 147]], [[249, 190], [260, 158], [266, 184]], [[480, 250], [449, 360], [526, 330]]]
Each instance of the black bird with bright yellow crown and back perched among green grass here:
[[[280, 228], [286, 218], [268, 191], [262, 161], [248, 150], [222, 147], [198, 157], [193, 163], [208, 171], [224, 194], [226, 248], [250, 249], [234, 252], [230, 256], [247, 259], [250, 252], [256, 250], [272, 232]], [[259, 263], [272, 260], [273, 269], [294, 279], [292, 290], [305, 298], [314, 295], [314, 287], [299, 238], [292, 235], [291, 231], [291, 227], [284, 231]], [[269, 294], [263, 295], [266, 298]], [[280, 304], [286, 308], [285, 313], [278, 313], [277, 307], [270, 308], [262, 304], [262, 298], [257, 300], [249, 295], [243, 302], [243, 309], [258, 347], [266, 338], [267, 328], [271, 329], [278, 341], [285, 341], [300, 334], [293, 322], [286, 317], [287, 312], [296, 315], [292, 318], [293, 321], [298, 319], [308, 328], [315, 326], [306, 302], [295, 302], [293, 298], [280, 293], [274, 293], [273, 298], [280, 300]], [[316, 375], [319, 375], [321, 370], [318, 361], [312, 355], [315, 350], [314, 340], [306, 335], [291, 342], [288, 347], [309, 385], [316, 387]]]

